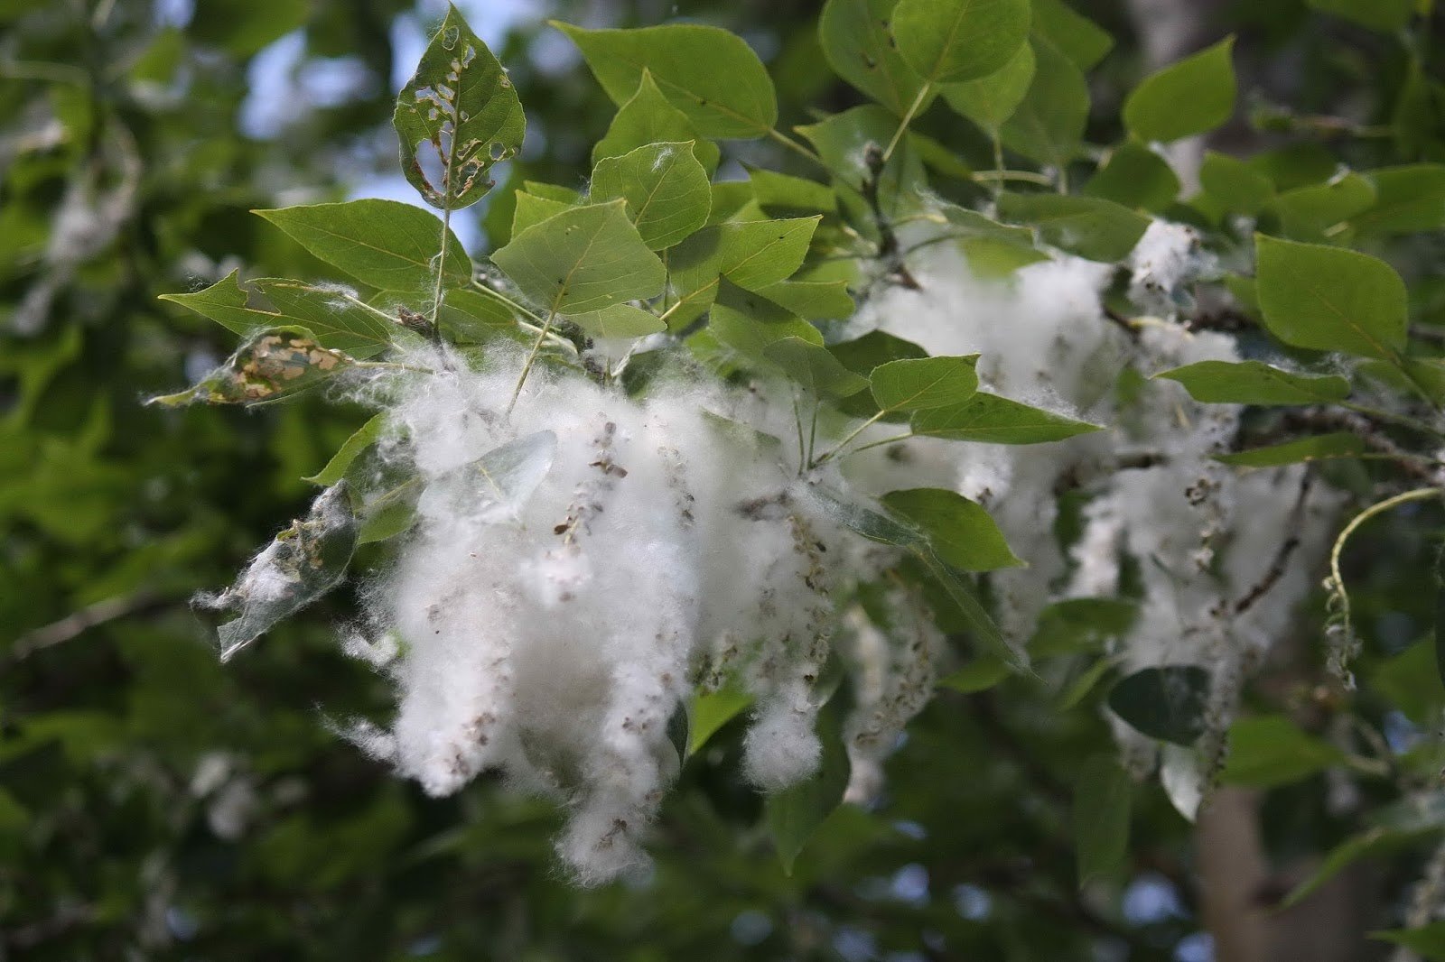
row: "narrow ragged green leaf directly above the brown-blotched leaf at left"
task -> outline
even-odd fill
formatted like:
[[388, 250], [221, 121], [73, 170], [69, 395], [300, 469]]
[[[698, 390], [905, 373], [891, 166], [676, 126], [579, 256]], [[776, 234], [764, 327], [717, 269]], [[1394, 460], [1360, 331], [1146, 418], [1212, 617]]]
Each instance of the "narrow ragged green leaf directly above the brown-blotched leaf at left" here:
[[309, 328], [315, 324], [321, 328], [318, 339], [324, 339], [325, 347], [348, 351], [355, 358], [380, 354], [392, 344], [392, 335], [396, 332], [394, 325], [377, 316], [361, 302], [351, 299], [345, 292], [312, 287], [299, 280], [266, 277], [257, 283], [264, 283], [270, 290], [277, 292], [290, 308], [299, 308], [299, 313], [264, 311], [247, 306], [246, 290], [237, 280], [238, 273], [233, 270], [223, 280], [202, 290], [160, 295], [160, 299], [189, 308], [243, 337], [251, 337], [269, 328]]

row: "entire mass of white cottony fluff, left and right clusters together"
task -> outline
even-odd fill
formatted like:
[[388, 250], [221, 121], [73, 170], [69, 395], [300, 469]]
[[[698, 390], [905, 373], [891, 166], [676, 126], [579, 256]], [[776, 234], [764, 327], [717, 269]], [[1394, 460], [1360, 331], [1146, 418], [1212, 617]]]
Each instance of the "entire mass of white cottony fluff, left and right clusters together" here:
[[[840, 529], [809, 495], [816, 484], [948, 487], [988, 508], [1027, 562], [988, 576], [1019, 640], [1053, 599], [1116, 594], [1131, 559], [1140, 614], [1121, 659], [1211, 666], [1222, 732], [1243, 673], [1308, 591], [1321, 546], [1293, 539], [1322, 526], [1302, 519], [1332, 500], [1298, 468], [1241, 475], [1212, 461], [1240, 412], [1144, 380], [1237, 360], [1233, 338], [1170, 319], [1214, 270], [1192, 231], [1155, 224], [1131, 269], [1134, 299], [1160, 316], [1126, 329], [1103, 309], [1108, 266], [1058, 257], [990, 280], [932, 244], [909, 260], [916, 287], [881, 289], [848, 322], [848, 335], [981, 354], [984, 390], [1108, 426], [1049, 445], [918, 438], [799, 477], [790, 389], [766, 378], [730, 389], [676, 360], [630, 399], [539, 367], [507, 413], [522, 358], [501, 350], [481, 368], [423, 352], [413, 370], [377, 376], [360, 391], [386, 412], [376, 487], [397, 467], [415, 475], [418, 523], [367, 589], [374, 640], [345, 643], [394, 680], [396, 715], [351, 737], [434, 794], [497, 771], [558, 799], [569, 812], [558, 852], [595, 883], [644, 864], [695, 690], [751, 695], [744, 770], [777, 790], [819, 766], [818, 683], [837, 659], [854, 702], [848, 797], [874, 797], [946, 646], [916, 588], [881, 576], [896, 553]], [[601, 354], [601, 367], [617, 358]], [[819, 441], [841, 430], [824, 423]], [[892, 433], [876, 425], [860, 443]], [[1082, 533], [1065, 545], [1055, 527], [1071, 491]], [[851, 601], [863, 582], [889, 585], [887, 617]]]

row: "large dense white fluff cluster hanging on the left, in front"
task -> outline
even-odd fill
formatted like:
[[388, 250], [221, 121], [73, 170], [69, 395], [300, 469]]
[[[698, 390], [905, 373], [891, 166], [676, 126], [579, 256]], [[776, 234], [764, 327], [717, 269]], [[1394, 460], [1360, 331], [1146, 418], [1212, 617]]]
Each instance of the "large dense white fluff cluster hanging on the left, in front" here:
[[[747, 436], [782, 433], [769, 407], [533, 371], [503, 416], [520, 358], [416, 361], [436, 373], [370, 389], [387, 419], [379, 472], [403, 465], [420, 493], [370, 588], [374, 640], [353, 644], [394, 680], [396, 718], [353, 737], [432, 794], [494, 770], [559, 799], [558, 849], [584, 883], [644, 861], [679, 764], [669, 722], [696, 686], [753, 696], [759, 789], [814, 774], [835, 591], [876, 575], [879, 553], [850, 549], [796, 465]], [[881, 712], [890, 729], [896, 715]]]

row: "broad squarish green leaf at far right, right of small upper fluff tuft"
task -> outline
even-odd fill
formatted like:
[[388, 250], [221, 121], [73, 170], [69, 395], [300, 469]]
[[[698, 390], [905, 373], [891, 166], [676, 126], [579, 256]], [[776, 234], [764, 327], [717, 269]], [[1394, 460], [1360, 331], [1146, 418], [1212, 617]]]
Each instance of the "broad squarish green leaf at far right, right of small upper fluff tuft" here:
[[1393, 360], [1405, 347], [1405, 282], [1353, 250], [1256, 235], [1264, 326], [1285, 344]]

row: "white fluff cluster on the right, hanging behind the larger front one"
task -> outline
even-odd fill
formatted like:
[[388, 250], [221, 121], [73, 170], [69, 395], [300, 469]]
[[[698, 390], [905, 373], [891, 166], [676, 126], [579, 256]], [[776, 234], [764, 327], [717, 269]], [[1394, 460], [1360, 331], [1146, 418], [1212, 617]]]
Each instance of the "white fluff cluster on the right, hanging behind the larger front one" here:
[[[1003, 280], [970, 272], [933, 247], [912, 264], [919, 290], [893, 287], [853, 322], [931, 354], [983, 352], [985, 390], [1111, 430], [1040, 446], [949, 445], [912, 439], [880, 454], [926, 482], [984, 504], [1029, 568], [994, 572], [1000, 624], [1026, 638], [1053, 599], [1117, 597], [1127, 562], [1142, 581], [1139, 617], [1118, 657], [1126, 669], [1199, 664], [1212, 676], [1207, 732], [1189, 779], [1222, 764], [1240, 688], [1287, 628], [1325, 550], [1324, 516], [1340, 498], [1311, 487], [1303, 467], [1241, 472], [1227, 452], [1241, 409], [1201, 404], [1155, 374], [1196, 361], [1238, 361], [1230, 334], [1191, 332], [1179, 319], [1188, 287], [1217, 273], [1195, 233], [1156, 221], [1133, 251], [1129, 296], [1144, 316], [1111, 321], [1103, 293], [1113, 266], [1072, 257], [1026, 266]], [[1088, 500], [1072, 545], [1053, 532], [1059, 494]], [[1116, 725], [1126, 754], [1152, 766], [1155, 742]], [[1198, 792], [1195, 792], [1198, 793]]]

